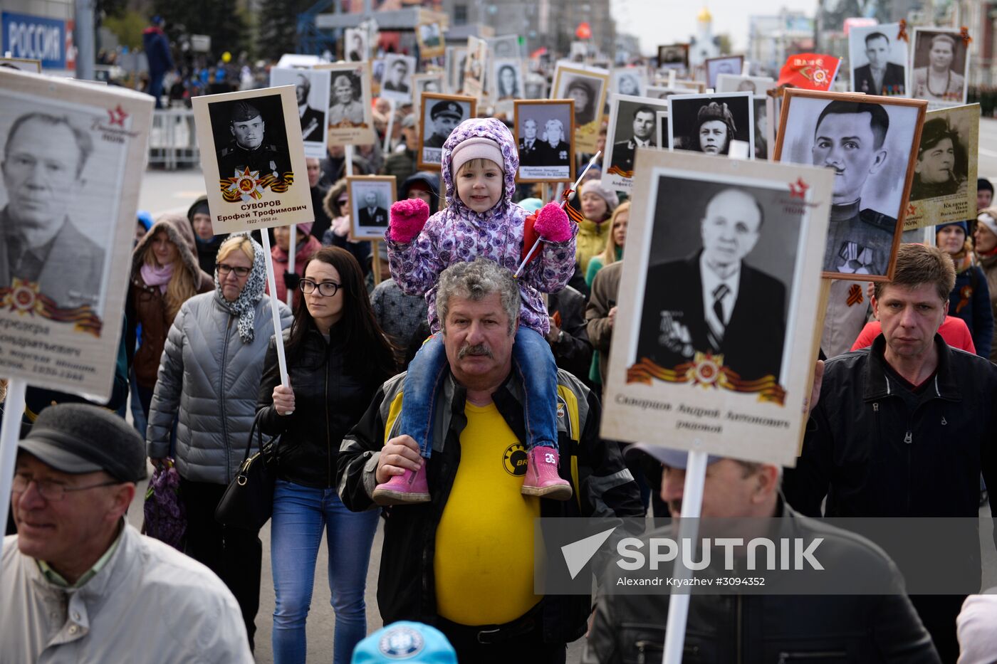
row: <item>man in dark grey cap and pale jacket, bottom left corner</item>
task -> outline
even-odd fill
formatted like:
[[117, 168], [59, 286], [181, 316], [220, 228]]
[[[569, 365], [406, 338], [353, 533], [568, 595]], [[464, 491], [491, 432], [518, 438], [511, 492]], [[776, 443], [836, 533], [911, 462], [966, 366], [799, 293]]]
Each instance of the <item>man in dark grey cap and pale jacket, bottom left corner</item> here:
[[142, 438], [110, 411], [38, 416], [18, 443], [18, 534], [0, 558], [0, 662], [252, 661], [221, 580], [126, 521], [145, 477]]

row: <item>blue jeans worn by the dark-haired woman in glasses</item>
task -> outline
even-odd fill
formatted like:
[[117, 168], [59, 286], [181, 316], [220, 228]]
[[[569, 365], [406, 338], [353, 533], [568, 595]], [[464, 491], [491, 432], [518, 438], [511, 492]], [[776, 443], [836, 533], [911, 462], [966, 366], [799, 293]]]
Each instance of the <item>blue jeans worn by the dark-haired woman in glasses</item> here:
[[315, 585], [315, 559], [325, 528], [329, 590], [336, 611], [333, 663], [349, 664], [367, 634], [364, 590], [367, 563], [380, 512], [350, 511], [333, 489], [312, 489], [277, 480], [270, 525], [274, 664], [305, 661], [305, 620]]

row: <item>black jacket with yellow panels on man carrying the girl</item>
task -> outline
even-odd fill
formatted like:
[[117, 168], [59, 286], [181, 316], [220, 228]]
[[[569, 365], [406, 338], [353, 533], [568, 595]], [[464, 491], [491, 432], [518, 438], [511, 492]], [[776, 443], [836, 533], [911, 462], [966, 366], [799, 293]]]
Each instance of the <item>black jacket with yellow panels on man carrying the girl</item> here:
[[[405, 374], [385, 383], [360, 422], [343, 440], [337, 459], [337, 483], [343, 503], [360, 511], [375, 506], [371, 493], [378, 456], [385, 441], [399, 436]], [[565, 371], [557, 375], [558, 473], [571, 482], [570, 500], [540, 500], [540, 515], [640, 516], [644, 513], [637, 484], [623, 463], [619, 446], [599, 439], [599, 402]], [[466, 391], [453, 377], [444, 381], [437, 399], [433, 431], [433, 463], [427, 466], [431, 502], [388, 509], [378, 581], [378, 606], [385, 624], [396, 620], [437, 620], [434, 556], [436, 529], [461, 463], [461, 432]], [[525, 444], [522, 392], [511, 375], [493, 400], [502, 419]], [[547, 595], [542, 600], [543, 637], [567, 643], [585, 633], [590, 598]]]

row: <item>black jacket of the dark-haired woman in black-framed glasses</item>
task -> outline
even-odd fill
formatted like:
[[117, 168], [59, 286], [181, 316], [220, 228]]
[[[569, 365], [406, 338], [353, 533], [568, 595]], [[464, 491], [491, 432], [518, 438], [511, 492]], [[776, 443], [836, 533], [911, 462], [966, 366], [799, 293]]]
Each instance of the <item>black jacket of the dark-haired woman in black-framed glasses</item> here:
[[[285, 344], [289, 333], [284, 330]], [[256, 411], [261, 412], [263, 433], [281, 436], [277, 477], [304, 487], [328, 489], [335, 481], [339, 444], [389, 377], [374, 368], [347, 373], [345, 347], [335, 327], [329, 343], [312, 327], [304, 344], [300, 357], [293, 364], [288, 360], [294, 412], [277, 415], [273, 407], [273, 388], [280, 384], [273, 338], [266, 350]]]

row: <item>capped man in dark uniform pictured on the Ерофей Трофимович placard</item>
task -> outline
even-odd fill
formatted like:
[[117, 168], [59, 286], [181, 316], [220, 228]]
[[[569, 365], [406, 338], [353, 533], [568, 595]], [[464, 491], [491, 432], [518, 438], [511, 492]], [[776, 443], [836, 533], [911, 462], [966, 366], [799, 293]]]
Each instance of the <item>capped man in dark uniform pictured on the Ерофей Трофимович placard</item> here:
[[291, 170], [286, 151], [263, 143], [266, 123], [259, 109], [249, 102], [235, 102], [228, 129], [232, 140], [218, 151], [218, 174], [221, 177], [231, 177], [247, 167], [250, 171], [259, 171], [260, 177], [268, 174], [280, 177]]

